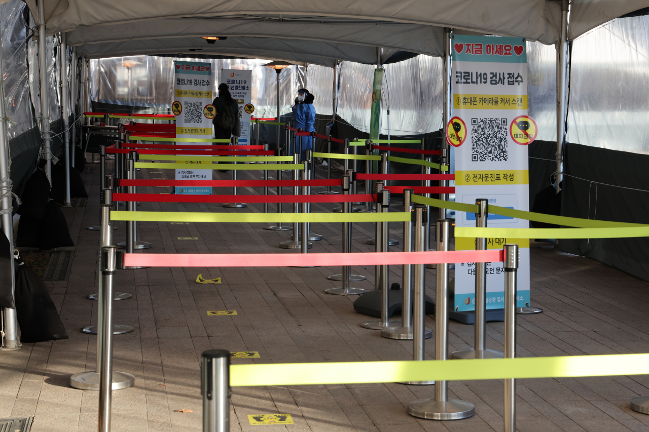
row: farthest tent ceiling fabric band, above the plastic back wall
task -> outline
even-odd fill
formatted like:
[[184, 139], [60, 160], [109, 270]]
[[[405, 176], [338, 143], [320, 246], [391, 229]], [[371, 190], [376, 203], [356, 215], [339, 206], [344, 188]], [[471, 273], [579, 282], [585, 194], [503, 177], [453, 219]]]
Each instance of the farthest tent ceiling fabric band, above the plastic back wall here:
[[[201, 49], [201, 51], [190, 51], [190, 49]], [[395, 49], [384, 50], [384, 56], [387, 58], [396, 52]], [[299, 39], [232, 37], [227, 40], [217, 40], [214, 44], [208, 44], [202, 38], [144, 39], [92, 43], [77, 47], [77, 55], [85, 54], [88, 58], [175, 53], [275, 58], [328, 67], [333, 67], [336, 59], [363, 64], [376, 63], [375, 47]]]

